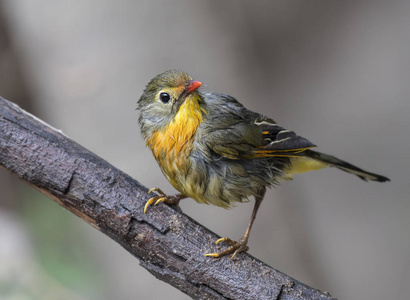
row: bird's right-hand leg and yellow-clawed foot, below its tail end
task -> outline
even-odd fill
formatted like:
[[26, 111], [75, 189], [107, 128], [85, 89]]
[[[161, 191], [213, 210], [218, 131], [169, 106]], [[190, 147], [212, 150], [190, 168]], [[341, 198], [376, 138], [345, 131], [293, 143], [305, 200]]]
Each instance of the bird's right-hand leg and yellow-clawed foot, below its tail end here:
[[263, 189], [259, 193], [258, 196], [255, 196], [255, 206], [253, 207], [253, 211], [252, 211], [252, 215], [251, 215], [251, 221], [249, 222], [248, 228], [246, 229], [246, 232], [243, 235], [243, 237], [237, 242], [232, 241], [230, 238], [221, 238], [221, 239], [216, 241], [216, 244], [218, 244], [220, 242], [227, 242], [231, 246], [223, 252], [220, 252], [220, 253], [207, 253], [207, 254], [205, 254], [205, 256], [221, 257], [221, 256], [224, 256], [226, 254], [230, 254], [230, 253], [233, 252], [233, 255], [231, 256], [231, 259], [232, 259], [238, 253], [248, 251], [249, 247], [246, 244], [248, 243], [248, 238], [249, 238], [249, 234], [250, 234], [251, 229], [252, 229], [253, 221], [255, 221], [256, 214], [258, 212], [259, 206], [262, 203], [263, 196], [265, 195], [265, 191], [266, 191], [266, 189]]

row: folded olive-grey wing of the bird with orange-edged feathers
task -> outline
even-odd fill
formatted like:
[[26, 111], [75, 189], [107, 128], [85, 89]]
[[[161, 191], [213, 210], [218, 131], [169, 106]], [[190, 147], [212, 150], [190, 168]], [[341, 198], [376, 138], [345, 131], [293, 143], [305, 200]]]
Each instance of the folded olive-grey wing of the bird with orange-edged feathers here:
[[316, 147], [274, 120], [246, 109], [228, 95], [210, 93], [206, 98], [215, 104], [206, 109], [215, 107], [218, 111], [208, 111], [198, 138], [219, 156], [228, 159], [299, 157], [306, 149]]

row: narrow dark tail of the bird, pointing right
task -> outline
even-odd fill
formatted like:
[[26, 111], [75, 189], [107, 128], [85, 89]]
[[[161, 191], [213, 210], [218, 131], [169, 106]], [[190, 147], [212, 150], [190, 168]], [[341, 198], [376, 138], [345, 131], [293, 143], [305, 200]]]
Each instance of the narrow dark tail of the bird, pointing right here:
[[354, 174], [358, 176], [360, 179], [363, 179], [365, 181], [367, 180], [373, 180], [373, 181], [379, 181], [379, 182], [390, 181], [390, 179], [387, 177], [367, 172], [341, 159], [338, 159], [332, 155], [320, 153], [320, 152], [313, 151], [310, 149], [305, 150], [303, 154], [307, 157], [310, 157], [315, 160], [329, 164], [331, 167], [336, 167], [342, 171]]

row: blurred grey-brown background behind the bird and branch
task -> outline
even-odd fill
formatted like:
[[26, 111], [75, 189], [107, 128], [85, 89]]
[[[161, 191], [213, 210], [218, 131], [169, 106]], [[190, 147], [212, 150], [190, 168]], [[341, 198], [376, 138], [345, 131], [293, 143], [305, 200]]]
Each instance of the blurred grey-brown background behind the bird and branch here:
[[[410, 2], [0, 2], [0, 95], [147, 187], [174, 193], [137, 125], [156, 74], [205, 88], [389, 183], [334, 169], [269, 190], [250, 254], [339, 299], [410, 294]], [[188, 299], [112, 240], [0, 170], [1, 299]], [[238, 239], [253, 200], [182, 210]]]

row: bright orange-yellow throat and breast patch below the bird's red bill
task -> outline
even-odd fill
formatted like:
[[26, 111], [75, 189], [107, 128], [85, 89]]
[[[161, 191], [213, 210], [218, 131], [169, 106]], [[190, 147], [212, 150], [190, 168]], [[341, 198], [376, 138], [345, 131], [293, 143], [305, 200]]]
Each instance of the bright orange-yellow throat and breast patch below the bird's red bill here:
[[188, 95], [174, 120], [147, 139], [147, 146], [168, 176], [172, 176], [169, 172], [175, 172], [175, 168], [184, 164], [184, 158], [191, 151], [193, 138], [204, 112], [199, 106], [199, 100], [198, 95]]

